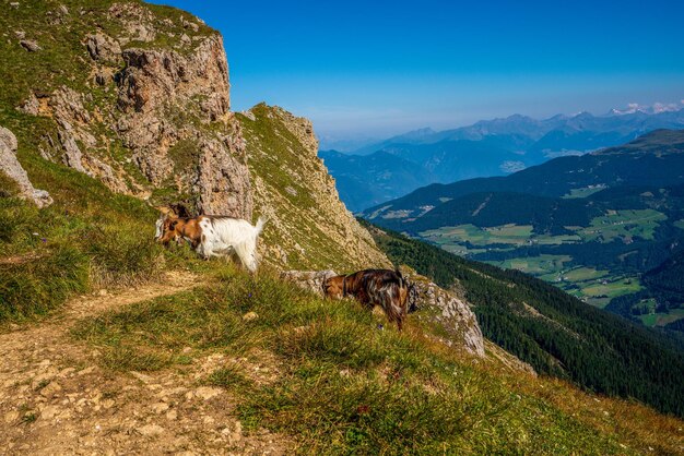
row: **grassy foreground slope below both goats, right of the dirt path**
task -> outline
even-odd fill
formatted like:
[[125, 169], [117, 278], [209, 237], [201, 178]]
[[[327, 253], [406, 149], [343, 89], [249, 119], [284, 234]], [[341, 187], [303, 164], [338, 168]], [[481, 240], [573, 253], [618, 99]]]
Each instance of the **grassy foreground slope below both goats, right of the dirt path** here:
[[[246, 312], [258, 317], [244, 322]], [[248, 431], [288, 435], [302, 453], [625, 452], [500, 372], [417, 329], [378, 331], [378, 319], [354, 302], [226, 266], [212, 286], [82, 321], [73, 335], [98, 347], [111, 370], [185, 369], [185, 347], [233, 360], [261, 353], [259, 362], [279, 372], [273, 381], [256, 380], [237, 361], [204, 381], [234, 394]]]

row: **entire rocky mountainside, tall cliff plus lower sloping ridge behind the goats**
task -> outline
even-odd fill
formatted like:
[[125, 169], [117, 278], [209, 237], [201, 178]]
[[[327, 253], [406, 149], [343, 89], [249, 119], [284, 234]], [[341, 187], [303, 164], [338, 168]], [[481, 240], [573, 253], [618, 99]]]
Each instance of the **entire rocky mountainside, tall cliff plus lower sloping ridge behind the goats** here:
[[138, 1], [7, 12], [0, 47], [15, 69], [0, 69], [0, 106], [20, 159], [39, 154], [152, 205], [250, 220], [256, 206], [278, 267], [389, 265], [340, 202], [308, 120], [266, 105], [231, 112], [223, 38], [201, 20]]

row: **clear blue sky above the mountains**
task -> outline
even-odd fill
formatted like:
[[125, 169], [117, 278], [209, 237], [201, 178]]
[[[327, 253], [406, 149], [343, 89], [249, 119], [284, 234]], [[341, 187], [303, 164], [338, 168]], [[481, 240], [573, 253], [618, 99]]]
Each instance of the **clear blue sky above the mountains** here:
[[679, 0], [154, 2], [223, 34], [234, 110], [279, 105], [327, 137], [684, 99]]

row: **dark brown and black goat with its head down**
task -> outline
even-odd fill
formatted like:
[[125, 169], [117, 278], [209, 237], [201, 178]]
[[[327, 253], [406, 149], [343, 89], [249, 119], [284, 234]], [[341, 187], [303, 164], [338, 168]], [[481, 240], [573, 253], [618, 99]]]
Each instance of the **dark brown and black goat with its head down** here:
[[323, 293], [329, 298], [353, 297], [364, 307], [380, 305], [390, 322], [399, 331], [409, 311], [412, 286], [399, 271], [364, 269], [357, 273], [330, 277], [323, 283]]

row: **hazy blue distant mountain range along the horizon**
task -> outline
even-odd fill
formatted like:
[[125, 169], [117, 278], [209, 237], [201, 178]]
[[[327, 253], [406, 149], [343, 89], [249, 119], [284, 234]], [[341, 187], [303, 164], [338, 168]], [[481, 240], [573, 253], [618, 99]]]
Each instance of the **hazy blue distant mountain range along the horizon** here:
[[618, 145], [657, 129], [684, 128], [684, 109], [629, 108], [544, 120], [515, 115], [436, 132], [415, 130], [352, 154], [320, 151], [353, 212], [429, 183], [506, 176], [551, 158]]

